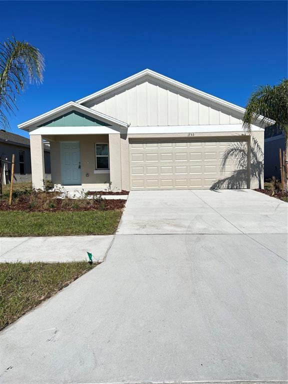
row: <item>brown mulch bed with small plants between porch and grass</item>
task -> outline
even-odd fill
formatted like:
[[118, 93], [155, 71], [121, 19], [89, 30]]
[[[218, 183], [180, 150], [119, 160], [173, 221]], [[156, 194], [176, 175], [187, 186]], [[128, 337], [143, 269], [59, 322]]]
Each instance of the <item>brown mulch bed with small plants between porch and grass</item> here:
[[109, 199], [97, 202], [89, 200], [90, 203], [81, 206], [81, 201], [73, 200], [72, 206], [62, 206], [62, 199], [55, 198], [52, 200], [54, 206], [51, 208], [44, 208], [43, 206], [36, 205], [31, 207], [30, 203], [24, 198], [19, 197], [17, 201], [9, 206], [7, 201], [0, 200], [0, 210], [26, 210], [30, 212], [56, 212], [56, 211], [79, 211], [79, 210], [111, 210], [122, 209], [125, 206], [126, 200], [124, 199]]

